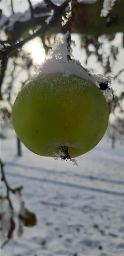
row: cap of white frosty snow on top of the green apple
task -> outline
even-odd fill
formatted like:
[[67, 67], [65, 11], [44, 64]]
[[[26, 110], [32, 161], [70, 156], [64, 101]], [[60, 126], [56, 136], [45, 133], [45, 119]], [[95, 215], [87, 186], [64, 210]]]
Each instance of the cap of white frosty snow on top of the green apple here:
[[[79, 60], [77, 61], [72, 58], [73, 60], [68, 61], [67, 55], [69, 54], [69, 50], [67, 49], [67, 36], [68, 32], [62, 37], [56, 36], [52, 49], [49, 50], [47, 60], [39, 69], [39, 73], [36, 78], [39, 79], [43, 74], [61, 72], [64, 76], [76, 75], [78, 77], [82, 77], [97, 86], [99, 82], [105, 83], [108, 81], [110, 90], [108, 93], [105, 93], [104, 96], [107, 100], [112, 99], [113, 90], [111, 88], [111, 76], [103, 76], [101, 74], [96, 75], [92, 70], [83, 68]], [[72, 41], [72, 44], [75, 45], [75, 42]], [[71, 48], [70, 55], [72, 56]]]

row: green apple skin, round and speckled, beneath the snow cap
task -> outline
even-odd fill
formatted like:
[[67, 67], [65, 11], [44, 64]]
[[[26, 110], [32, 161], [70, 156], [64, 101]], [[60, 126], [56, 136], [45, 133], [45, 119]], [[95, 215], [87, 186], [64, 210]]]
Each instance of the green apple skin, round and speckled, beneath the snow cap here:
[[65, 145], [72, 158], [101, 140], [108, 105], [100, 89], [81, 77], [39, 75], [18, 93], [12, 120], [18, 138], [35, 154], [53, 156]]

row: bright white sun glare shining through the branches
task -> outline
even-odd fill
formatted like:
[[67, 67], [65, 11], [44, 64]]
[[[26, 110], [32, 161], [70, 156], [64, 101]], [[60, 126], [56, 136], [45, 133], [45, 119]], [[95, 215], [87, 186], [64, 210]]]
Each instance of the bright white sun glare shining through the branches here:
[[36, 37], [24, 44], [23, 50], [31, 53], [31, 58], [33, 59], [34, 63], [41, 64], [45, 61], [45, 50], [39, 37]]

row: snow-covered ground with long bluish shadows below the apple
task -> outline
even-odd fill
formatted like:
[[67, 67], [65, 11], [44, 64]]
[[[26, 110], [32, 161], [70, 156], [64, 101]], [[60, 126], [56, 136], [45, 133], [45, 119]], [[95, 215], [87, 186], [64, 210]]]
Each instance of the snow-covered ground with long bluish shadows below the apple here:
[[[123, 146], [104, 137], [90, 152], [71, 161], [33, 154], [16, 156], [12, 129], [1, 140], [1, 157], [11, 186], [24, 185], [26, 208], [37, 224], [24, 227], [1, 249], [1, 256], [124, 255]], [[1, 183], [3, 188], [3, 182]], [[11, 197], [18, 212], [16, 195]]]

